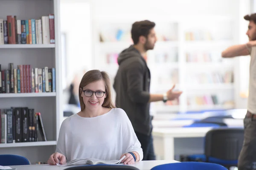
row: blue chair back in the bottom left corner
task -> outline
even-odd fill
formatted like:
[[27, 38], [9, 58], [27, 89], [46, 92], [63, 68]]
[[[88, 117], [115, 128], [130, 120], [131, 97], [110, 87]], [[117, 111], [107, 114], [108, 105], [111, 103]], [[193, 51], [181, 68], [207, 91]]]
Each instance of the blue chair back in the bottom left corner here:
[[24, 156], [18, 155], [0, 155], [0, 165], [14, 166], [14, 165], [29, 165], [30, 162]]

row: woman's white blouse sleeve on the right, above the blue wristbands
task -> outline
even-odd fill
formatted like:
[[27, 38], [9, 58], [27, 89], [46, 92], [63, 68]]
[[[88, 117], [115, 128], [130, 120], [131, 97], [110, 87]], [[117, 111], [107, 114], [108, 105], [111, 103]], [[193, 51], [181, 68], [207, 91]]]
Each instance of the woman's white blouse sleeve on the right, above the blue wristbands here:
[[140, 155], [139, 161], [141, 161], [143, 159], [143, 151], [141, 148], [141, 144], [134, 132], [134, 128], [131, 125], [131, 121], [128, 118], [128, 116], [124, 110], [122, 110], [120, 108], [118, 110], [120, 112], [119, 113], [120, 117], [122, 117], [122, 120], [121, 120], [121, 131], [122, 132], [121, 132], [121, 134], [122, 134], [122, 139], [123, 139], [123, 147], [126, 147], [126, 148], [124, 148], [124, 150], [126, 150], [125, 153], [135, 151], [135, 152], [139, 153], [139, 155]]

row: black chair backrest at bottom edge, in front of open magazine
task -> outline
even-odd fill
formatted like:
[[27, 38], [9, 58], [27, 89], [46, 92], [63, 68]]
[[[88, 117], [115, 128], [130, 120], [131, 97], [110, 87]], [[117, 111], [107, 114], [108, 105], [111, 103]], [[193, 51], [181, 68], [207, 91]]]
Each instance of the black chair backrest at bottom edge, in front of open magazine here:
[[65, 170], [139, 170], [137, 167], [117, 164], [96, 164], [69, 167]]

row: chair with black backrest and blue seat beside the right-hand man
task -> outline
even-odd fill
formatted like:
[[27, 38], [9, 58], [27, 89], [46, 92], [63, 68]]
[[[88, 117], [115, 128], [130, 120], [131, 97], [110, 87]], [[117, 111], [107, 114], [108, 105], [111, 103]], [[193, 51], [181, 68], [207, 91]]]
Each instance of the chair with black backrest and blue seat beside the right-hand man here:
[[186, 156], [186, 161], [202, 161], [221, 164], [230, 168], [237, 166], [244, 140], [242, 128], [218, 128], [207, 132], [204, 154]]

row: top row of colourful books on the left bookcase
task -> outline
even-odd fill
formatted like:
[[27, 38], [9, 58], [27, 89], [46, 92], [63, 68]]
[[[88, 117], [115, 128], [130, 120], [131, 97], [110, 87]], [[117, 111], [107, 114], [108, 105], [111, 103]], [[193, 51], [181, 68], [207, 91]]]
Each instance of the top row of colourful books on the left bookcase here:
[[54, 14], [35, 20], [17, 20], [17, 16], [0, 19], [0, 45], [54, 44]]

